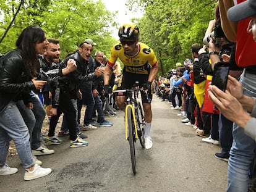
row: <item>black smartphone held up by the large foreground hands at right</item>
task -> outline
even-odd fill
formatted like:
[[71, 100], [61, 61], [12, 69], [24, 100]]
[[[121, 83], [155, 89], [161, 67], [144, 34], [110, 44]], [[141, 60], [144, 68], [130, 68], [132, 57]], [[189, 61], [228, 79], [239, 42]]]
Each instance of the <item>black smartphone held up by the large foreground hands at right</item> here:
[[229, 63], [217, 62], [213, 69], [213, 79], [211, 85], [217, 86], [220, 90], [225, 91], [228, 83]]

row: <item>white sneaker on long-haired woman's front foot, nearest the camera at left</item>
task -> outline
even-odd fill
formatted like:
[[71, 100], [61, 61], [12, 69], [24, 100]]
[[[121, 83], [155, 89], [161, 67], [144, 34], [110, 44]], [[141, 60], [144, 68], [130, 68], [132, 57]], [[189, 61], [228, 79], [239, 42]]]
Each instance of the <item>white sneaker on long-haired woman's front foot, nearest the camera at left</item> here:
[[25, 181], [30, 181], [30, 180], [33, 180], [35, 178], [40, 178], [40, 177], [44, 177], [46, 175], [49, 175], [49, 173], [51, 173], [50, 168], [42, 168], [42, 167], [40, 167], [40, 165], [35, 164], [35, 167], [34, 167], [33, 171], [30, 172], [27, 169], [25, 169], [24, 180]]

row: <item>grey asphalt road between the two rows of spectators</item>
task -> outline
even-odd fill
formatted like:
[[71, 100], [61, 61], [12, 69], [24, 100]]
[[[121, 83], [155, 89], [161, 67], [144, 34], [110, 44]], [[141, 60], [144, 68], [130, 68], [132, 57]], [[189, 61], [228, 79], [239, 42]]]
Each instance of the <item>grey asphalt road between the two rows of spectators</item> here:
[[214, 157], [220, 146], [203, 143], [194, 129], [180, 122], [179, 111], [153, 96], [151, 138], [153, 148], [136, 143], [137, 174], [132, 173], [129, 143], [125, 140], [124, 114], [108, 117], [113, 127], [85, 131], [89, 145], [69, 148], [68, 138], [50, 145], [55, 153], [38, 156], [42, 167], [53, 172], [25, 182], [18, 156], [7, 164], [14, 175], [0, 177], [0, 191], [225, 191], [228, 164]]

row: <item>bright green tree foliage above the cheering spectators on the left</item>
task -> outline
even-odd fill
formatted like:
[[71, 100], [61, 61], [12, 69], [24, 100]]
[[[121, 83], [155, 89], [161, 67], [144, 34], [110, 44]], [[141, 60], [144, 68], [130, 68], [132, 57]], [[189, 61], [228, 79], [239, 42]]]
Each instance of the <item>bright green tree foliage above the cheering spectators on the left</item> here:
[[[21, 1], [20, 1], [21, 2]], [[13, 19], [19, 2], [0, 3], [4, 19], [0, 27], [0, 36]], [[87, 38], [97, 43], [95, 51], [104, 51], [108, 56], [116, 40], [109, 28], [116, 25], [113, 13], [106, 10], [101, 1], [93, 0], [30, 0], [25, 1], [6, 37], [0, 42], [0, 52], [15, 48], [17, 36], [23, 28], [35, 25], [46, 31], [48, 38], [60, 40], [61, 57], [73, 52]]]

